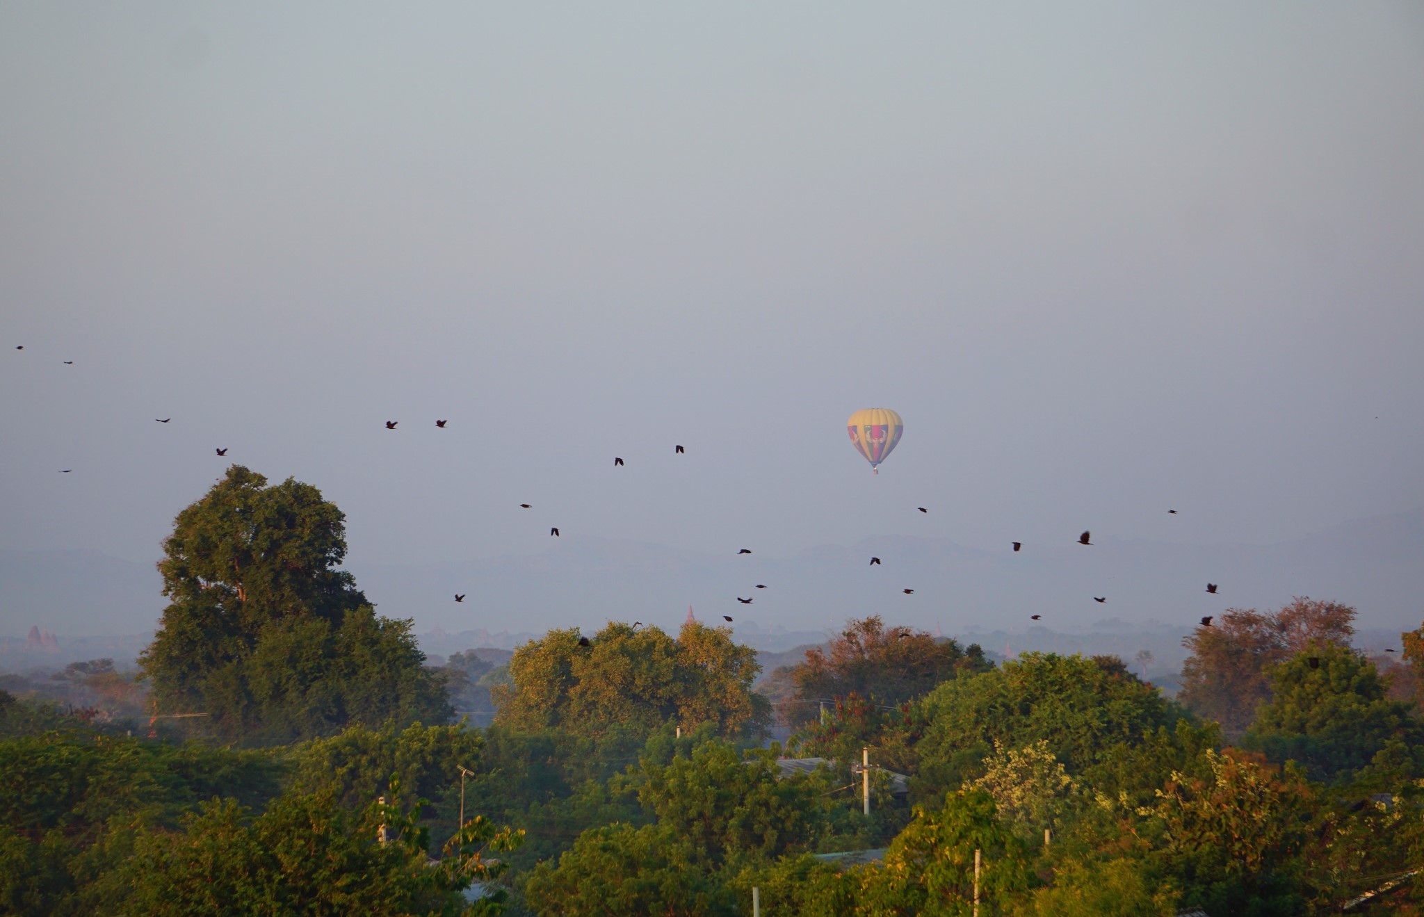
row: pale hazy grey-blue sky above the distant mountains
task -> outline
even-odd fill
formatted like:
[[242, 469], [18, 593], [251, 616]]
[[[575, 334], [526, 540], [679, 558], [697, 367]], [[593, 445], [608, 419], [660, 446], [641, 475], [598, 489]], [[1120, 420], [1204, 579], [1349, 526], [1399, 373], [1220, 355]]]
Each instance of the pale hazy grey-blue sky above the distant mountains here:
[[1424, 505], [1424, 7], [1071, 7], [0, 4], [0, 548], [231, 461], [357, 580]]

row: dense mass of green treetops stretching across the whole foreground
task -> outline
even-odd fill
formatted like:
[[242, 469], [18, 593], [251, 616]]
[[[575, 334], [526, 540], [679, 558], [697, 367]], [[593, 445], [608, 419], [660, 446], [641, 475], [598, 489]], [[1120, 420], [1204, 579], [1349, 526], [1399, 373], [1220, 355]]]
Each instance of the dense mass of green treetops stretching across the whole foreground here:
[[[1262, 669], [1239, 748], [1116, 658], [961, 652], [897, 703], [840, 696], [789, 746], [824, 760], [793, 767], [755, 738], [755, 659], [702, 627], [554, 631], [484, 729], [219, 748], [0, 692], [0, 911], [732, 917], [756, 889], [768, 916], [967, 916], [978, 852], [984, 917], [1339, 913], [1424, 860], [1424, 733], [1330, 636], [1349, 617], [1317, 612], [1344, 607], [1292, 608], [1313, 635]], [[1424, 886], [1381, 897], [1418, 914]]]

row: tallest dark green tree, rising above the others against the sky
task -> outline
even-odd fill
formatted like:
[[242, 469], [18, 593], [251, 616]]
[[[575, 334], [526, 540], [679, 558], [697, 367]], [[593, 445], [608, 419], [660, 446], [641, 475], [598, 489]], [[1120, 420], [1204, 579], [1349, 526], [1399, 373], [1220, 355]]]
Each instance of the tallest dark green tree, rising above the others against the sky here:
[[169, 605], [141, 658], [158, 712], [249, 742], [450, 716], [410, 621], [377, 617], [337, 570], [343, 523], [310, 484], [242, 466], [178, 514], [158, 564]]

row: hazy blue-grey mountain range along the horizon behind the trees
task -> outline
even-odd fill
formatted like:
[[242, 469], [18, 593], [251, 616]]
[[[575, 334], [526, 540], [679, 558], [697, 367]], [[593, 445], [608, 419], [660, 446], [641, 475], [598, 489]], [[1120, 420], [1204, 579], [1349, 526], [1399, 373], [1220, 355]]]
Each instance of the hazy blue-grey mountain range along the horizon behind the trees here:
[[[1161, 622], [1185, 634], [1200, 615], [1279, 608], [1293, 595], [1350, 602], [1361, 628], [1414, 628], [1424, 615], [1424, 511], [1270, 545], [1163, 544], [1102, 533], [1082, 547], [1075, 534], [1061, 544], [1025, 544], [1018, 554], [1007, 544], [988, 551], [884, 537], [792, 557], [738, 555], [740, 545], [709, 555], [564, 537], [531, 555], [424, 567], [353, 558], [350, 570], [382, 614], [414, 618], [424, 639], [454, 638], [434, 638], [440, 648], [430, 651], [440, 654], [511, 648], [515, 638], [550, 627], [591, 632], [608, 619], [675, 629], [689, 605], [713, 624], [731, 615], [739, 636], [766, 651], [820, 642], [846, 618], [867, 614], [944, 635], [1028, 634], [1031, 614], [1057, 632], [1096, 631], [1094, 622], [1115, 618], [1129, 629]], [[870, 567], [871, 555], [883, 564]], [[1220, 584], [1219, 595], [1206, 594], [1208, 581]], [[0, 639], [23, 642], [34, 625], [61, 644], [66, 634], [147, 634], [164, 607], [159, 587], [152, 564], [97, 551], [0, 551]], [[468, 598], [457, 605], [454, 592]]]

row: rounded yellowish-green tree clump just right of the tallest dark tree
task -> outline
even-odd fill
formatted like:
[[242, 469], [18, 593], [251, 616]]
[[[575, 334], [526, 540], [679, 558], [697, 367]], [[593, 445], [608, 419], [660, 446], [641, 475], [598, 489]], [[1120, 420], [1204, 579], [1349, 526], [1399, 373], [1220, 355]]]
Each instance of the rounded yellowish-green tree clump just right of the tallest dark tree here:
[[752, 692], [760, 668], [756, 651], [733, 644], [729, 628], [696, 621], [676, 639], [617, 621], [592, 638], [550, 631], [514, 651], [510, 683], [491, 689], [494, 722], [591, 736], [648, 735], [665, 722], [712, 723], [723, 736], [755, 733], [770, 718], [770, 705]]

